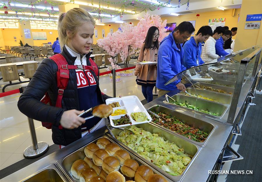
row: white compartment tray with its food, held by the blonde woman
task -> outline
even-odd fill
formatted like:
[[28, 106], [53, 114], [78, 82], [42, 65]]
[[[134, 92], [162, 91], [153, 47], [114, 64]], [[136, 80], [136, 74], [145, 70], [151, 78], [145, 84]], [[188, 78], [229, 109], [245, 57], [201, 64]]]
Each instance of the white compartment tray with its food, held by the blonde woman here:
[[152, 121], [151, 116], [135, 95], [110, 98], [106, 99], [105, 102], [113, 107], [113, 113], [109, 116], [110, 124], [113, 127], [124, 127]]

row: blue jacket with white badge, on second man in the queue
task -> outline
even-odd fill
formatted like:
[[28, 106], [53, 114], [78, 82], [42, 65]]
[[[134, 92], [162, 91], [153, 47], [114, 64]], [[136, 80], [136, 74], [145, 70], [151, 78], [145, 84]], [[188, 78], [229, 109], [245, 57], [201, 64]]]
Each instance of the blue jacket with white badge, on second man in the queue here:
[[[184, 58], [183, 58], [183, 65], [188, 69], [194, 66], [198, 66], [200, 64], [204, 64], [201, 58], [201, 50], [202, 45], [201, 42], [197, 43], [194, 37], [190, 37], [190, 39], [184, 44]], [[198, 64], [196, 63], [196, 59], [198, 58]]]

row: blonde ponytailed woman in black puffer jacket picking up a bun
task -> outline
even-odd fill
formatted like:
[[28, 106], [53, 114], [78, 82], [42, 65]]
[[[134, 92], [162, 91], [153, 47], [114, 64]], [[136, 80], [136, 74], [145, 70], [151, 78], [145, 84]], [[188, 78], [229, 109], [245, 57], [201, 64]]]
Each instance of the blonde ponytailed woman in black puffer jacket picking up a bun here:
[[[84, 118], [91, 113], [78, 117], [84, 110], [105, 103], [105, 99], [109, 98], [101, 93], [99, 77], [95, 73], [97, 65], [93, 66], [92, 60], [89, 59], [94, 24], [93, 17], [82, 8], [73, 8], [59, 15], [61, 55], [67, 62], [64, 68], [69, 68], [69, 81], [63, 90], [61, 108], [54, 107], [61, 90], [57, 86], [58, 66], [50, 58], [44, 59], [39, 65], [17, 104], [19, 110], [28, 117], [51, 122], [52, 139], [55, 144], [61, 146], [66, 146], [105, 125], [105, 120], [97, 117], [85, 122]], [[80, 68], [72, 69], [75, 66], [71, 65], [80, 65]], [[91, 65], [94, 69], [86, 69], [85, 66]], [[52, 106], [40, 102], [46, 92]]]

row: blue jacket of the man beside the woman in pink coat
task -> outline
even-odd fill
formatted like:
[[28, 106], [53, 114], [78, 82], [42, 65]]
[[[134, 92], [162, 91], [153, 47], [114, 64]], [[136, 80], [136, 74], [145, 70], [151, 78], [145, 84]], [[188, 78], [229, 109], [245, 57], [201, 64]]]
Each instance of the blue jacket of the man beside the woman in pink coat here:
[[184, 54], [182, 44], [180, 44], [179, 50], [175, 44], [173, 33], [174, 31], [163, 39], [158, 50], [156, 86], [161, 90], [171, 91], [177, 88], [176, 85], [180, 80], [166, 86], [164, 86], [164, 84], [186, 69], [182, 64]]

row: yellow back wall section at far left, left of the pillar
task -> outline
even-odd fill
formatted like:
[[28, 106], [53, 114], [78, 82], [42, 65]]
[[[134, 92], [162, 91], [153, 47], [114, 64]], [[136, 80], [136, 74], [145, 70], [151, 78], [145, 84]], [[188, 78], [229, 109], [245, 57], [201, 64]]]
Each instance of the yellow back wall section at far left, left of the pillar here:
[[[5, 46], [20, 46], [19, 42], [21, 39], [21, 34], [19, 29], [2, 29], [2, 34]], [[16, 37], [16, 39], [14, 39], [14, 37]]]

